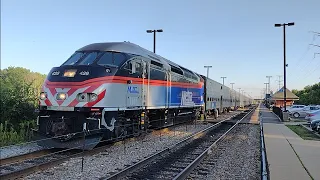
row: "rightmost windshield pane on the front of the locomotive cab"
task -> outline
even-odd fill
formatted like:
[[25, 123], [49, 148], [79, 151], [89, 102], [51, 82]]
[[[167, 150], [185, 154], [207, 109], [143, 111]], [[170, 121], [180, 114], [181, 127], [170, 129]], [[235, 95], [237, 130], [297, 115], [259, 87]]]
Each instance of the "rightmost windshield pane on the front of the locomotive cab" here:
[[121, 53], [114, 52], [105, 52], [97, 64], [99, 65], [111, 65], [111, 66], [120, 66], [120, 64], [125, 60], [125, 56]]

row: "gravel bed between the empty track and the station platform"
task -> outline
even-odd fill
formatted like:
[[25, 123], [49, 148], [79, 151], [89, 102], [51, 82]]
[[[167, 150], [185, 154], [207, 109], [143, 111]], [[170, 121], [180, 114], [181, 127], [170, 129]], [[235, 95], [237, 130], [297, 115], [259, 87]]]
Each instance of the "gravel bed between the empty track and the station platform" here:
[[187, 179], [260, 179], [259, 125], [239, 124]]

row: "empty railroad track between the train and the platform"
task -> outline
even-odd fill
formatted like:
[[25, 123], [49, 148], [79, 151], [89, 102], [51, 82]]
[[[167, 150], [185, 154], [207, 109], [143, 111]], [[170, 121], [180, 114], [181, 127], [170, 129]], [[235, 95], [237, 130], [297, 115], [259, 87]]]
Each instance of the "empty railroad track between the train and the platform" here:
[[[216, 123], [118, 173], [100, 179], [185, 179], [217, 142], [255, 108]], [[236, 123], [227, 122], [238, 119]]]

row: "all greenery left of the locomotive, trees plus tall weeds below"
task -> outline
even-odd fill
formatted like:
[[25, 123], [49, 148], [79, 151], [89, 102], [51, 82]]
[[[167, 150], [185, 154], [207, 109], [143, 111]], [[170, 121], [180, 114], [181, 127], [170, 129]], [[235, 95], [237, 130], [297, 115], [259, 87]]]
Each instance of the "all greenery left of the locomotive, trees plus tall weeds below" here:
[[21, 67], [0, 70], [1, 145], [30, 139], [45, 77]]

